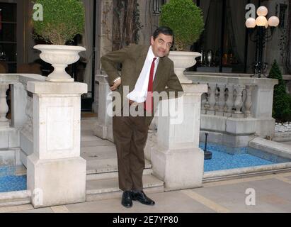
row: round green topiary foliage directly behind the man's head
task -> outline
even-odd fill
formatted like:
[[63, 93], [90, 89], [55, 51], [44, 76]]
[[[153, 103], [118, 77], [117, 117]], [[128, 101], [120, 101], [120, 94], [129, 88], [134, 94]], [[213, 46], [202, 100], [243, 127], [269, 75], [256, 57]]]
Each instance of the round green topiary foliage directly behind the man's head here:
[[170, 0], [161, 6], [159, 23], [173, 29], [176, 50], [186, 50], [204, 29], [202, 11], [192, 0]]

